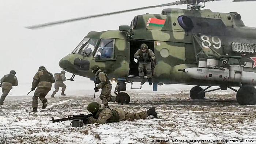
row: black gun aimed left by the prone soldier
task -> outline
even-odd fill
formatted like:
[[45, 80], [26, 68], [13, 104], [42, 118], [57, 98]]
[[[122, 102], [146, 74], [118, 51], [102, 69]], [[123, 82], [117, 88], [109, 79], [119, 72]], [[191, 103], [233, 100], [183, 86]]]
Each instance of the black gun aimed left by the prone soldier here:
[[64, 118], [50, 120], [51, 122], [61, 122], [61, 121], [83, 121], [85, 123], [89, 117], [93, 116], [92, 114], [79, 114], [79, 115], [67, 115]]

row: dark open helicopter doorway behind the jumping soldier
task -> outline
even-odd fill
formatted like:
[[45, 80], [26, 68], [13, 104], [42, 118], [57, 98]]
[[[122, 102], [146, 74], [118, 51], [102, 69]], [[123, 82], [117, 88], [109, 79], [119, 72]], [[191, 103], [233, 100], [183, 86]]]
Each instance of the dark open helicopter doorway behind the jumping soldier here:
[[[129, 75], [130, 76], [139, 76], [139, 62], [133, 56], [140, 49], [142, 43], [147, 44], [148, 49], [151, 49], [154, 52], [154, 41], [145, 41], [140, 39], [133, 39], [130, 42], [130, 64], [129, 64]], [[146, 72], [144, 72], [146, 75]]]

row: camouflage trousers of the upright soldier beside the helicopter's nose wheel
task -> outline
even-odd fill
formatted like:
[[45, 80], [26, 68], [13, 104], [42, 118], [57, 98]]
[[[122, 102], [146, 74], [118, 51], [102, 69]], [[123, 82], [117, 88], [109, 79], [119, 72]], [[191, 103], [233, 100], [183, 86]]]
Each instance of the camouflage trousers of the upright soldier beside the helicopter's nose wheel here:
[[102, 100], [102, 104], [108, 106], [108, 102], [113, 102], [111, 95], [112, 84], [106, 84], [102, 90], [99, 98]]

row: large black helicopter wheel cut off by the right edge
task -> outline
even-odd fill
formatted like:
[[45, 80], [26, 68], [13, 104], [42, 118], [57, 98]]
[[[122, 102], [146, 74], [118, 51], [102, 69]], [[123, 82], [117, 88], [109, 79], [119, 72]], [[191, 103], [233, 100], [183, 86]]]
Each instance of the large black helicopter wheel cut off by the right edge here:
[[237, 91], [237, 102], [240, 105], [256, 104], [256, 89], [253, 86], [242, 86]]

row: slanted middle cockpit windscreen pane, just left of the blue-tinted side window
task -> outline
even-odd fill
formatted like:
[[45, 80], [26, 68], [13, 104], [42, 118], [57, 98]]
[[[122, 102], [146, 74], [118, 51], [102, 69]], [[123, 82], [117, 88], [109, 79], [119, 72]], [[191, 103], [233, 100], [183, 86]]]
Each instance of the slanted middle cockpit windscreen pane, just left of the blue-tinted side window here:
[[82, 46], [80, 53], [83, 56], [89, 57], [90, 54], [93, 53], [97, 42], [98, 42], [98, 39], [91, 38], [84, 46]]

